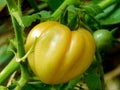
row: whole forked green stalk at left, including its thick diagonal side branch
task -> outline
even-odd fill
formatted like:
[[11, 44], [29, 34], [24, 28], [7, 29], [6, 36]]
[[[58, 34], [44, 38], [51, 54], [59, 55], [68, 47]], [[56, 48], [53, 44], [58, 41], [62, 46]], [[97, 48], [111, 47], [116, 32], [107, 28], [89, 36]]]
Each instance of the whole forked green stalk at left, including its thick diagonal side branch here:
[[[18, 6], [16, 3], [12, 0], [6, 0], [8, 10], [11, 15], [13, 27], [14, 27], [14, 32], [15, 32], [15, 38], [16, 38], [16, 45], [17, 45], [17, 56], [19, 58], [23, 57], [25, 55], [25, 49], [24, 49], [24, 42], [23, 42], [23, 23], [21, 20], [21, 1], [18, 0]], [[21, 62], [20, 64], [16, 62], [16, 59], [14, 58], [8, 66], [0, 73], [0, 83], [4, 82], [18, 67], [21, 67], [21, 78], [18, 81], [18, 86], [16, 87], [15, 90], [21, 90], [21, 88], [25, 85], [27, 82], [28, 78], [28, 72], [26, 69], [26, 63]]]

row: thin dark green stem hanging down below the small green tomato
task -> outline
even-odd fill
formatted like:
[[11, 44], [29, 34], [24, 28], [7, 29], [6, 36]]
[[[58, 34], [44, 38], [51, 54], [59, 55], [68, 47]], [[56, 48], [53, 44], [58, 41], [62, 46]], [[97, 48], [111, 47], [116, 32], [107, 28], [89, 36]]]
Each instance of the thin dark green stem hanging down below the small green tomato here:
[[101, 80], [101, 89], [100, 90], [105, 90], [105, 81], [104, 81], [104, 71], [103, 71], [103, 66], [102, 66], [102, 58], [101, 55], [99, 53], [99, 51], [96, 51], [96, 60], [97, 60], [97, 64], [98, 64], [98, 72], [100, 75], [100, 80]]

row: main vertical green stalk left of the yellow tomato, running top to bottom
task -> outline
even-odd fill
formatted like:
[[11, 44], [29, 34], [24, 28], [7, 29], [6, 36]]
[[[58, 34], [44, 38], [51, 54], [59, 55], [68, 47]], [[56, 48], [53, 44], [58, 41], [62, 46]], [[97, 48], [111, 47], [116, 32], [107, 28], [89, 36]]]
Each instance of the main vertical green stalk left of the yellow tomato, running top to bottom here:
[[[9, 0], [7, 0], [7, 1], [9, 1]], [[9, 8], [10, 3], [8, 2], [7, 4], [8, 4], [9, 12], [11, 12], [12, 10]], [[18, 15], [20, 16], [20, 21], [22, 21], [21, 20], [21, 16], [22, 16], [21, 1], [18, 0], [18, 7], [13, 7], [13, 8], [17, 9], [16, 13], [18, 13]], [[21, 24], [18, 23], [19, 20], [17, 20], [16, 17], [17, 16], [14, 16], [14, 14], [12, 14], [12, 12], [11, 12], [11, 18], [12, 18], [12, 23], [13, 23], [14, 32], [15, 32], [15, 38], [17, 41], [17, 55], [18, 55], [18, 58], [22, 58], [25, 55], [25, 48], [24, 48], [24, 42], [23, 42], [24, 27], [23, 27], [22, 23]], [[21, 68], [21, 78], [18, 81], [19, 85], [16, 86], [15, 90], [21, 90], [29, 78], [29, 73], [28, 73], [27, 65], [25, 62], [20, 62], [20, 68]]]

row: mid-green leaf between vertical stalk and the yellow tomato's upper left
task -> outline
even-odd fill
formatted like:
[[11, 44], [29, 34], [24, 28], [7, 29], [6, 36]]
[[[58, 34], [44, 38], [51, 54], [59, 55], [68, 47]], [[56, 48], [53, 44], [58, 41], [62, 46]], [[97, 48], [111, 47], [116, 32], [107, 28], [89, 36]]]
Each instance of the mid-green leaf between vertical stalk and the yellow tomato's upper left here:
[[26, 15], [22, 17], [22, 21], [25, 27], [30, 26], [37, 19], [40, 19], [38, 14]]

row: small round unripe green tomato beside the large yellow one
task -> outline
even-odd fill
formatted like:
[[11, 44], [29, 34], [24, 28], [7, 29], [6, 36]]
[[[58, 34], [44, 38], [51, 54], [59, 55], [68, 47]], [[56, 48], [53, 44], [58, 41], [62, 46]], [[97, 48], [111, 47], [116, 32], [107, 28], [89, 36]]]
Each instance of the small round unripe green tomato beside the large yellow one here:
[[99, 51], [105, 51], [112, 45], [113, 35], [106, 29], [95, 31], [93, 36]]

